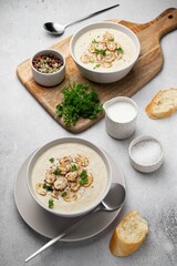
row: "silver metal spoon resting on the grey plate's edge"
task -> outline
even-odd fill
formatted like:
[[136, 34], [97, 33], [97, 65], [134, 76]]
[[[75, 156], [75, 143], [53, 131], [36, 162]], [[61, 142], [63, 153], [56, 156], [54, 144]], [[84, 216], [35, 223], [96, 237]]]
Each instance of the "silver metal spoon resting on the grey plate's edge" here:
[[96, 213], [98, 211], [106, 211], [106, 212], [116, 211], [122, 206], [122, 204], [124, 203], [124, 200], [125, 200], [125, 188], [124, 188], [124, 186], [118, 184], [118, 183], [112, 183], [108, 194], [106, 195], [106, 197], [102, 201], [102, 203], [95, 209], [93, 209], [92, 212], [90, 212], [85, 216], [82, 216], [79, 222], [73, 224], [67, 229], [65, 229], [61, 235], [59, 235], [59, 236], [54, 237], [53, 239], [51, 239], [50, 242], [48, 242], [44, 246], [42, 246], [40, 249], [38, 249], [35, 253], [33, 253], [30, 257], [28, 257], [25, 259], [25, 263], [28, 263], [31, 258], [35, 257], [41, 252], [43, 252], [48, 247], [52, 246], [55, 242], [63, 238], [69, 233], [71, 233], [73, 229], [75, 229], [85, 218], [87, 218], [87, 216], [91, 213]]

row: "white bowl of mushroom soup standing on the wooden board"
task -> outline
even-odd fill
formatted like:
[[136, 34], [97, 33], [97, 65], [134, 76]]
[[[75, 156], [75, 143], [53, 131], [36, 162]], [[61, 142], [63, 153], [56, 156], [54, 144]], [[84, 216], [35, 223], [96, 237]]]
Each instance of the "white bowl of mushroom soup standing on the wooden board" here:
[[91, 81], [111, 83], [123, 79], [139, 57], [140, 44], [128, 28], [97, 22], [79, 30], [70, 52], [81, 73]]

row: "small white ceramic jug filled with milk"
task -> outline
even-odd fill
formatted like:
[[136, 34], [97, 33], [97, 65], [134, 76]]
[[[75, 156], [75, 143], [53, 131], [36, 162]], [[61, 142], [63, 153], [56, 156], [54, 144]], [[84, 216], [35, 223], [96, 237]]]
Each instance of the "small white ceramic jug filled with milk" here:
[[108, 135], [117, 140], [129, 137], [136, 129], [137, 104], [126, 96], [114, 98], [103, 104], [105, 127]]

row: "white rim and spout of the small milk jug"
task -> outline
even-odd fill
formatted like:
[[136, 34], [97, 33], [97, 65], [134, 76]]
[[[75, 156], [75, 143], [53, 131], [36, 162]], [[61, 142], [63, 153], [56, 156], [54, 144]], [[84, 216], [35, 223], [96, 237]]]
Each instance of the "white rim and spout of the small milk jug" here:
[[[127, 122], [116, 122], [116, 121], [114, 121], [113, 119], [111, 119], [110, 115], [108, 115], [107, 112], [106, 112], [106, 109], [105, 109], [104, 106], [105, 106], [106, 104], [111, 105], [111, 104], [114, 103], [114, 102], [129, 102], [129, 103], [134, 106], [134, 109], [135, 109], [135, 112], [136, 112], [135, 116], [134, 116], [132, 120], [127, 121]], [[105, 110], [106, 115], [108, 116], [108, 119], [110, 119], [111, 121], [113, 121], [114, 123], [116, 123], [116, 124], [128, 124], [128, 123], [132, 122], [134, 119], [136, 119], [136, 117], [137, 117], [137, 114], [138, 114], [138, 106], [137, 106], [136, 102], [135, 102], [134, 100], [132, 100], [131, 98], [127, 98], [127, 96], [113, 98], [113, 99], [106, 101], [106, 102], [103, 104], [103, 109]]]

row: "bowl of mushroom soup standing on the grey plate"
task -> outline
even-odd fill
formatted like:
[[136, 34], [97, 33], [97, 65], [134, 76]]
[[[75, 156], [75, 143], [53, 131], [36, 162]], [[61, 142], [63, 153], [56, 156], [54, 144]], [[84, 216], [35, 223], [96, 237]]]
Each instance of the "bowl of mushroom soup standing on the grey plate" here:
[[93, 143], [62, 137], [40, 147], [27, 170], [33, 200], [45, 211], [63, 217], [86, 214], [110, 191], [112, 170], [107, 155]]

